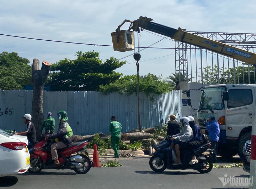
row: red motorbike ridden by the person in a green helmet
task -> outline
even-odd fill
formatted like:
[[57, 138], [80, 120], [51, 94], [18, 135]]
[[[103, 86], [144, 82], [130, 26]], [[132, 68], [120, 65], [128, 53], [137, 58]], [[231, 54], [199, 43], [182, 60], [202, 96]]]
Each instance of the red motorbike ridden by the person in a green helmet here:
[[[87, 173], [93, 162], [89, 158], [86, 150], [82, 151], [88, 144], [87, 141], [71, 143], [68, 147], [59, 149], [59, 165], [54, 164], [52, 154], [47, 141], [40, 141], [32, 148], [33, 154], [30, 155], [31, 173], [39, 173], [42, 169], [71, 169], [79, 174]], [[85, 153], [85, 154], [84, 154]]]

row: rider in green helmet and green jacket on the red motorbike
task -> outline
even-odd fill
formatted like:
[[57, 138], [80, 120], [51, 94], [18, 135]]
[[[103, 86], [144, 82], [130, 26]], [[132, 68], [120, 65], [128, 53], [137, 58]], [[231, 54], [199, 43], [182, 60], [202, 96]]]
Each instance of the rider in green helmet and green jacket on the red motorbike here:
[[52, 159], [55, 165], [59, 165], [57, 149], [62, 149], [68, 147], [73, 142], [73, 131], [69, 126], [67, 120], [68, 116], [65, 111], [60, 111], [58, 113], [59, 130], [53, 134], [47, 134], [46, 138], [58, 138], [59, 142], [51, 145]]

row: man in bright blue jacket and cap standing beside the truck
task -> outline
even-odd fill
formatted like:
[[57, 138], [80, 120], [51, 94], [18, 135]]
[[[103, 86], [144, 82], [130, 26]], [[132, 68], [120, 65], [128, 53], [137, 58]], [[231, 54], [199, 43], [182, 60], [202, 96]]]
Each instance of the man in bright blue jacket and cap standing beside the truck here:
[[220, 128], [214, 116], [210, 116], [206, 124], [206, 129], [209, 129], [209, 137], [212, 144], [212, 149], [214, 150], [214, 154], [217, 155]]

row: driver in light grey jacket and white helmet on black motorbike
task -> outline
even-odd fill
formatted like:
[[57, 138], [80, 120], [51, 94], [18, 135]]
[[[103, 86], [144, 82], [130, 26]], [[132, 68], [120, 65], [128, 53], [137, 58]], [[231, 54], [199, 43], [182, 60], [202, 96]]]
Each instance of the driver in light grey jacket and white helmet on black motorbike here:
[[182, 117], [180, 119], [180, 122], [183, 126], [181, 132], [172, 136], [172, 138], [171, 138], [171, 140], [172, 140], [171, 148], [175, 151], [175, 154], [177, 156], [177, 161], [174, 162], [172, 165], [181, 164], [180, 150], [189, 149], [190, 144], [188, 144], [188, 142], [193, 138], [192, 128], [188, 124], [189, 119], [187, 117]]

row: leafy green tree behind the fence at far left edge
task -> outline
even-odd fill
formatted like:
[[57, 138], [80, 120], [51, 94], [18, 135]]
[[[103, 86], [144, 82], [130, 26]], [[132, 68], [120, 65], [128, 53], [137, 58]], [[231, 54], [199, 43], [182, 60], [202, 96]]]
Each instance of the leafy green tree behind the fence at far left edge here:
[[0, 53], [0, 88], [23, 89], [24, 85], [32, 85], [29, 63], [28, 59], [19, 57], [17, 52]]

